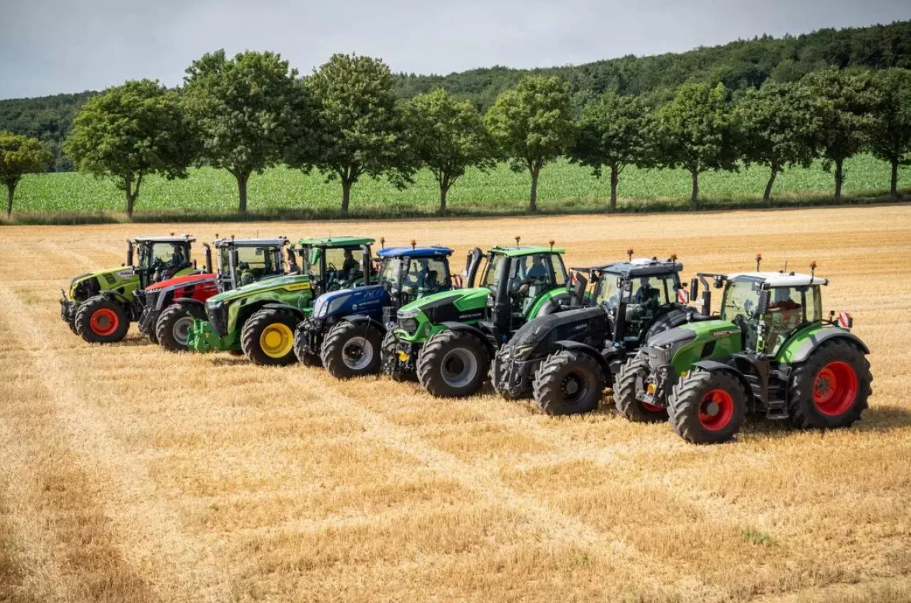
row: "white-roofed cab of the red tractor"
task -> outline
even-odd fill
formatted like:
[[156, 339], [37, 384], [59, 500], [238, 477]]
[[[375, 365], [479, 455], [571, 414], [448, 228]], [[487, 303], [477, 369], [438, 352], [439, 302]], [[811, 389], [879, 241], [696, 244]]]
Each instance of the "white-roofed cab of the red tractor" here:
[[[274, 239], [217, 239], [212, 242], [219, 259], [219, 290], [230, 291], [251, 282], [280, 276], [285, 273], [282, 250], [288, 245], [287, 237]], [[289, 271], [297, 269], [294, 252], [289, 248]], [[207, 245], [207, 261], [211, 265]]]

